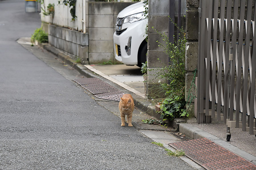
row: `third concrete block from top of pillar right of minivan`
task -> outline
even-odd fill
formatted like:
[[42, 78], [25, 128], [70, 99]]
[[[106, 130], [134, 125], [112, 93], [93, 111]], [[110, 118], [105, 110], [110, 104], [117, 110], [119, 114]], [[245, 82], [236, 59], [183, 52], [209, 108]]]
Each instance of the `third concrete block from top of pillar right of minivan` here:
[[[165, 34], [168, 37], [168, 32], [161, 33]], [[159, 46], [160, 44], [158, 42], [165, 44], [163, 41], [163, 37], [158, 33], [148, 33], [148, 49], [149, 50], [162, 50], [162, 48]]]

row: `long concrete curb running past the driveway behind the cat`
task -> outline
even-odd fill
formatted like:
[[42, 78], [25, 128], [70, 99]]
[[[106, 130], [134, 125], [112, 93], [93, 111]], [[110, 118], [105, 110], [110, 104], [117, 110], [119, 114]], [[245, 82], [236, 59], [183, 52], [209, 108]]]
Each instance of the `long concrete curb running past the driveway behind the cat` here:
[[156, 118], [159, 117], [159, 115], [157, 115], [157, 113], [156, 113], [155, 107], [152, 106], [152, 104], [150, 102], [148, 102], [145, 98], [143, 98], [139, 95], [136, 95], [133, 92], [130, 92], [130, 91], [124, 89], [123, 87], [111, 82], [110, 80], [107, 80], [106, 78], [99, 76], [96, 73], [88, 70], [84, 65], [76, 63], [71, 57], [64, 54], [63, 52], [60, 52], [60, 50], [49, 45], [48, 43], [38, 43], [38, 46], [53, 53], [59, 59], [64, 61], [65, 64], [68, 64], [68, 65], [72, 66], [73, 68], [75, 68], [77, 71], [79, 71], [80, 74], [82, 74], [86, 77], [99, 78], [100, 80], [103, 80], [104, 82], [108, 83], [109, 85], [113, 86], [114, 88], [116, 88], [124, 93], [129, 93], [129, 94], [133, 95], [134, 104], [137, 108], [139, 108], [141, 111], [145, 112], [146, 114], [148, 114], [150, 116], [154, 116]]

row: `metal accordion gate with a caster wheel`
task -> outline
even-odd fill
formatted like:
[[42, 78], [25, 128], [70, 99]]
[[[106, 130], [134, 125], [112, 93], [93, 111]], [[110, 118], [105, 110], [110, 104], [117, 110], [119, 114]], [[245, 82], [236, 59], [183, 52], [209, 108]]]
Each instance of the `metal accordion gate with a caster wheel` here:
[[197, 123], [226, 122], [227, 141], [230, 128], [256, 135], [255, 3], [199, 2]]

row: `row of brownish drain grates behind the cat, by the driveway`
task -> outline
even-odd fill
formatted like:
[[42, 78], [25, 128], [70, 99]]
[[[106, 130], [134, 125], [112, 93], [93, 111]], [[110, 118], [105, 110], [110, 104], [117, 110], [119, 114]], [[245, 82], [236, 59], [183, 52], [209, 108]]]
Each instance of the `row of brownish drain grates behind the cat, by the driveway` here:
[[73, 81], [101, 99], [120, 101], [124, 94], [98, 78], [80, 78]]

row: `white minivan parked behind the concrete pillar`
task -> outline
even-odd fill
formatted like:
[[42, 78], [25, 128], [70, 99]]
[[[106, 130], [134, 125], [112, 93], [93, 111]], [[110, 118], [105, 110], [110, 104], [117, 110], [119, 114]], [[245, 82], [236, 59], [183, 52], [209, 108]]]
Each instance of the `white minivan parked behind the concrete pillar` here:
[[145, 35], [148, 19], [144, 15], [144, 2], [124, 8], [117, 15], [113, 35], [115, 59], [125, 65], [142, 66], [146, 62], [147, 42]]

